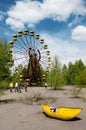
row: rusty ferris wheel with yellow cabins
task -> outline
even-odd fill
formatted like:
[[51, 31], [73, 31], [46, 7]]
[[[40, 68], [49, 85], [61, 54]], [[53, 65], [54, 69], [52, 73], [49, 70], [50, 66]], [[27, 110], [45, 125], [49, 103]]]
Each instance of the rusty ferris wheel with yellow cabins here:
[[37, 84], [45, 80], [51, 66], [51, 57], [48, 45], [39, 34], [27, 29], [18, 31], [9, 42], [9, 47], [15, 72], [18, 71], [19, 65], [26, 68], [21, 78], [29, 81], [29, 84]]

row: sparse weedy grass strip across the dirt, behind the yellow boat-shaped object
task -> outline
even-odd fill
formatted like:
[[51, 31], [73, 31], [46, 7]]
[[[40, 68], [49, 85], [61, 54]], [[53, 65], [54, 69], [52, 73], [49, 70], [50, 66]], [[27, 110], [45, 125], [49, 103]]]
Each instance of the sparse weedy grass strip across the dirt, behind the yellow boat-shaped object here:
[[18, 103], [24, 103], [27, 105], [40, 105], [42, 103], [53, 103], [56, 99], [53, 97], [46, 97], [43, 96], [40, 92], [33, 93], [29, 96], [25, 96], [19, 99], [5, 99], [5, 100], [0, 100], [0, 104], [2, 103], [13, 103], [13, 102], [18, 102]]

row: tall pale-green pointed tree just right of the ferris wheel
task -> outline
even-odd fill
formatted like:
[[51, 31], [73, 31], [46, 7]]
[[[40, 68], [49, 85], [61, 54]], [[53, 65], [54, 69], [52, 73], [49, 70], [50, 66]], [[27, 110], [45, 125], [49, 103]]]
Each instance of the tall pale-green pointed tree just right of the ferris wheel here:
[[64, 85], [64, 77], [61, 69], [61, 63], [59, 62], [58, 57], [55, 56], [48, 76], [48, 83], [53, 89], [61, 89]]

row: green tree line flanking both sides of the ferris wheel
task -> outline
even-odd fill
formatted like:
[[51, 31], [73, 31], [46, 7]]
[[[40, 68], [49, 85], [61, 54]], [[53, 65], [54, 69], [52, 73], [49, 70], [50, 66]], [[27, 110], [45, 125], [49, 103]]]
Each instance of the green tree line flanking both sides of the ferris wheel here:
[[[8, 86], [10, 81], [16, 81], [24, 69], [19, 66], [19, 74], [12, 76], [10, 62], [12, 55], [9, 53], [6, 40], [0, 40], [0, 88]], [[47, 75], [47, 82], [53, 89], [60, 89], [64, 85], [86, 85], [86, 66], [81, 59], [75, 63], [69, 62], [62, 65], [58, 56], [52, 60], [52, 65]]]

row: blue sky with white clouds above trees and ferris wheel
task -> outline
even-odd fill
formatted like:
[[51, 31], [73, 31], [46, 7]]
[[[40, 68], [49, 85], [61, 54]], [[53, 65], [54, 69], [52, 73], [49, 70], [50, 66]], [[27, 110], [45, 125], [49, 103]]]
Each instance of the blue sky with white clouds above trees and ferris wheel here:
[[24, 29], [44, 38], [51, 58], [86, 64], [86, 0], [0, 0], [0, 38]]

